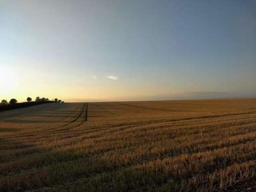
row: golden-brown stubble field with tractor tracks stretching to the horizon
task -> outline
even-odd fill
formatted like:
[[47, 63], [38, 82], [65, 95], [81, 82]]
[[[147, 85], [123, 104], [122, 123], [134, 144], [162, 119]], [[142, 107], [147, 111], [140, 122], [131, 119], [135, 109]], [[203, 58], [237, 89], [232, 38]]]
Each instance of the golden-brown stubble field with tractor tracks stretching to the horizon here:
[[256, 99], [1, 112], [0, 154], [0, 191], [256, 191]]

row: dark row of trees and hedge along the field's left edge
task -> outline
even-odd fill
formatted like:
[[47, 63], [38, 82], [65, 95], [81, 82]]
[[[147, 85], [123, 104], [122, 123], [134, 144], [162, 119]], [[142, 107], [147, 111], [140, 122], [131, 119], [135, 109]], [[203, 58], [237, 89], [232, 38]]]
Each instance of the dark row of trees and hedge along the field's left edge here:
[[44, 104], [44, 103], [57, 103], [57, 102], [64, 102], [61, 100], [58, 100], [57, 98], [55, 98], [54, 100], [52, 99], [51, 101], [48, 98], [45, 97], [36, 97], [35, 101], [32, 101], [31, 97], [27, 98], [27, 102], [20, 102], [18, 103], [18, 101], [16, 99], [11, 99], [9, 102], [6, 99], [3, 99], [0, 102], [0, 111], [5, 111], [5, 110], [12, 110], [12, 109], [18, 109], [18, 108], [26, 108], [28, 106], [33, 106], [33, 105], [37, 105], [37, 104]]

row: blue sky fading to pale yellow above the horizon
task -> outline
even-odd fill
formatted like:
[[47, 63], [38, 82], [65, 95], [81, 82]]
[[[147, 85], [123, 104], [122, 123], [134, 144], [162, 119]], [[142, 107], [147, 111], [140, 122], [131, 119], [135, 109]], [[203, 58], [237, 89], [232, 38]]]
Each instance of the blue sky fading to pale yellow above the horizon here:
[[256, 97], [256, 1], [0, 0], [0, 99]]

